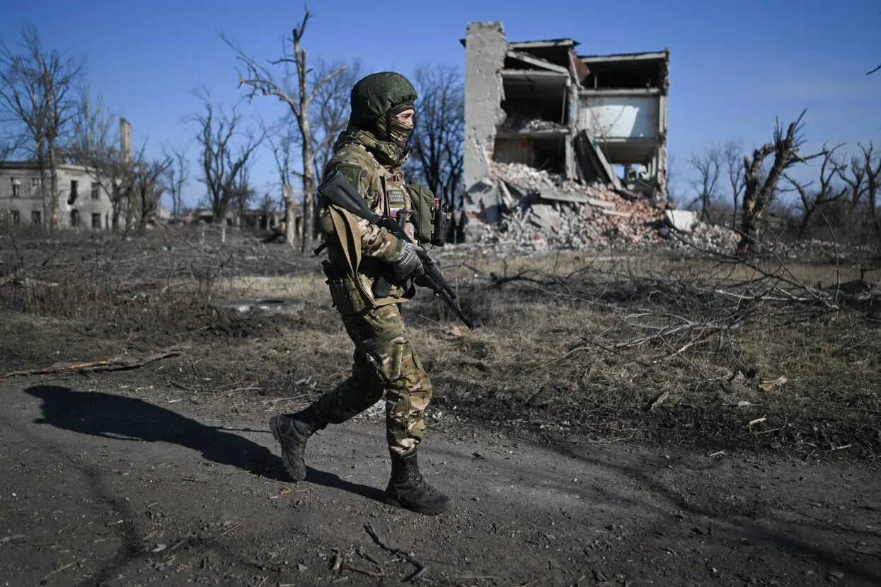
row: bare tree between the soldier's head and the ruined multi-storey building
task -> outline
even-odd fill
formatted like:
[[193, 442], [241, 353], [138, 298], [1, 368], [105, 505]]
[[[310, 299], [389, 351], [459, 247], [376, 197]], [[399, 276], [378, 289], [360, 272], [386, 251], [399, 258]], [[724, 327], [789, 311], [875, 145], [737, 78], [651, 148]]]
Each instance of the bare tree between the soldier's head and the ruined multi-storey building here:
[[[451, 65], [421, 65], [413, 76], [419, 99], [411, 169], [451, 208], [461, 190], [465, 124], [462, 73]], [[411, 159], [412, 160], [412, 159]]]

